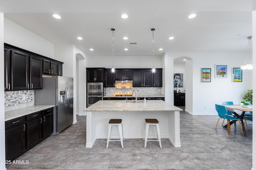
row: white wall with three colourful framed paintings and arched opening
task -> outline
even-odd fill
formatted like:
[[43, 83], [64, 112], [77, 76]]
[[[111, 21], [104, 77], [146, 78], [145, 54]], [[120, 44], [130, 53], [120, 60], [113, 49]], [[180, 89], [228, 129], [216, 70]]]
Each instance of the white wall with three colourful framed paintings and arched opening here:
[[[190, 92], [189, 86], [192, 86], [192, 101], [188, 112], [193, 115], [216, 115], [215, 105], [222, 104], [222, 101], [233, 101], [239, 104], [242, 96], [248, 89], [252, 89], [252, 70], [243, 70], [243, 81], [232, 82], [232, 67], [240, 67], [244, 63], [245, 52], [240, 53], [166, 53], [166, 59], [178, 58], [180, 56], [190, 57], [192, 60], [192, 84], [186, 84], [187, 92]], [[169, 63], [168, 63], [169, 62]], [[173, 61], [166, 60], [166, 65], [172, 66]], [[228, 65], [228, 78], [214, 78], [215, 64]], [[201, 68], [212, 68], [212, 82], [200, 82]], [[189, 68], [186, 68], [189, 69]], [[169, 74], [169, 76], [168, 76]], [[173, 75], [173, 73], [172, 73]], [[170, 71], [166, 71], [166, 79], [172, 76]], [[188, 80], [188, 75], [186, 76]], [[172, 78], [173, 79], [173, 78]], [[169, 83], [166, 83], [169, 84]], [[167, 86], [167, 85], [166, 85]], [[166, 97], [172, 97], [172, 94], [166, 90]], [[191, 97], [191, 96], [190, 96]], [[169, 100], [168, 100], [169, 101]], [[200, 104], [198, 104], [200, 102]], [[192, 110], [191, 110], [192, 109]]]

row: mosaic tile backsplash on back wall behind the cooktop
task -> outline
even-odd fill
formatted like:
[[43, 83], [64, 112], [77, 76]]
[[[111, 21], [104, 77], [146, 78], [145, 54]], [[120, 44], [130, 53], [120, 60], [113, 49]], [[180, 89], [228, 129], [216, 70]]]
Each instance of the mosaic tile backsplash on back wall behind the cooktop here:
[[106, 90], [104, 89], [104, 91], [106, 92], [106, 96], [115, 93], [132, 93], [133, 90], [136, 90], [138, 94], [160, 94], [162, 92], [162, 87], [133, 87], [132, 89], [107, 87]]

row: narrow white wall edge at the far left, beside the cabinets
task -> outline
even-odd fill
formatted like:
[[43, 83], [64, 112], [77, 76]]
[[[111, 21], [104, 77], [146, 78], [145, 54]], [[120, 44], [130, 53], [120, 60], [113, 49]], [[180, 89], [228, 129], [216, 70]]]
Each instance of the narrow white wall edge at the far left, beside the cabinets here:
[[[4, 63], [4, 13], [0, 12], [0, 63]], [[3, 66], [3, 64], [2, 64]], [[3, 68], [2, 68], [3, 69]], [[5, 131], [4, 131], [4, 72], [0, 72], [0, 160], [5, 159]], [[5, 169], [5, 164], [0, 164]]]

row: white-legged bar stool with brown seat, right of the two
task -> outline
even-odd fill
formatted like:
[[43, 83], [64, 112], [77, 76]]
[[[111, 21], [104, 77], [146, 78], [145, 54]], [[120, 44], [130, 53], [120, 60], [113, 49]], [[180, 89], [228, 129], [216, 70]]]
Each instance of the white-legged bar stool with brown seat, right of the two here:
[[[156, 127], [158, 139], [148, 140], [149, 126], [155, 126]], [[161, 138], [160, 138], [160, 130], [159, 130], [159, 122], [158, 122], [157, 119], [145, 119], [145, 139], [144, 140], [145, 140], [144, 148], [146, 148], [147, 141], [159, 141], [160, 148], [162, 149]]]

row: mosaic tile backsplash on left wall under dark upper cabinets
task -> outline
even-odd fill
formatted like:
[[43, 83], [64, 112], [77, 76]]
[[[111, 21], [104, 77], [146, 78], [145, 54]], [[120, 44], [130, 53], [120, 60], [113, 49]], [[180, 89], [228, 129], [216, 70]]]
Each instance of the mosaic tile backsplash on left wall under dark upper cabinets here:
[[10, 111], [34, 105], [34, 90], [4, 92], [4, 110]]

